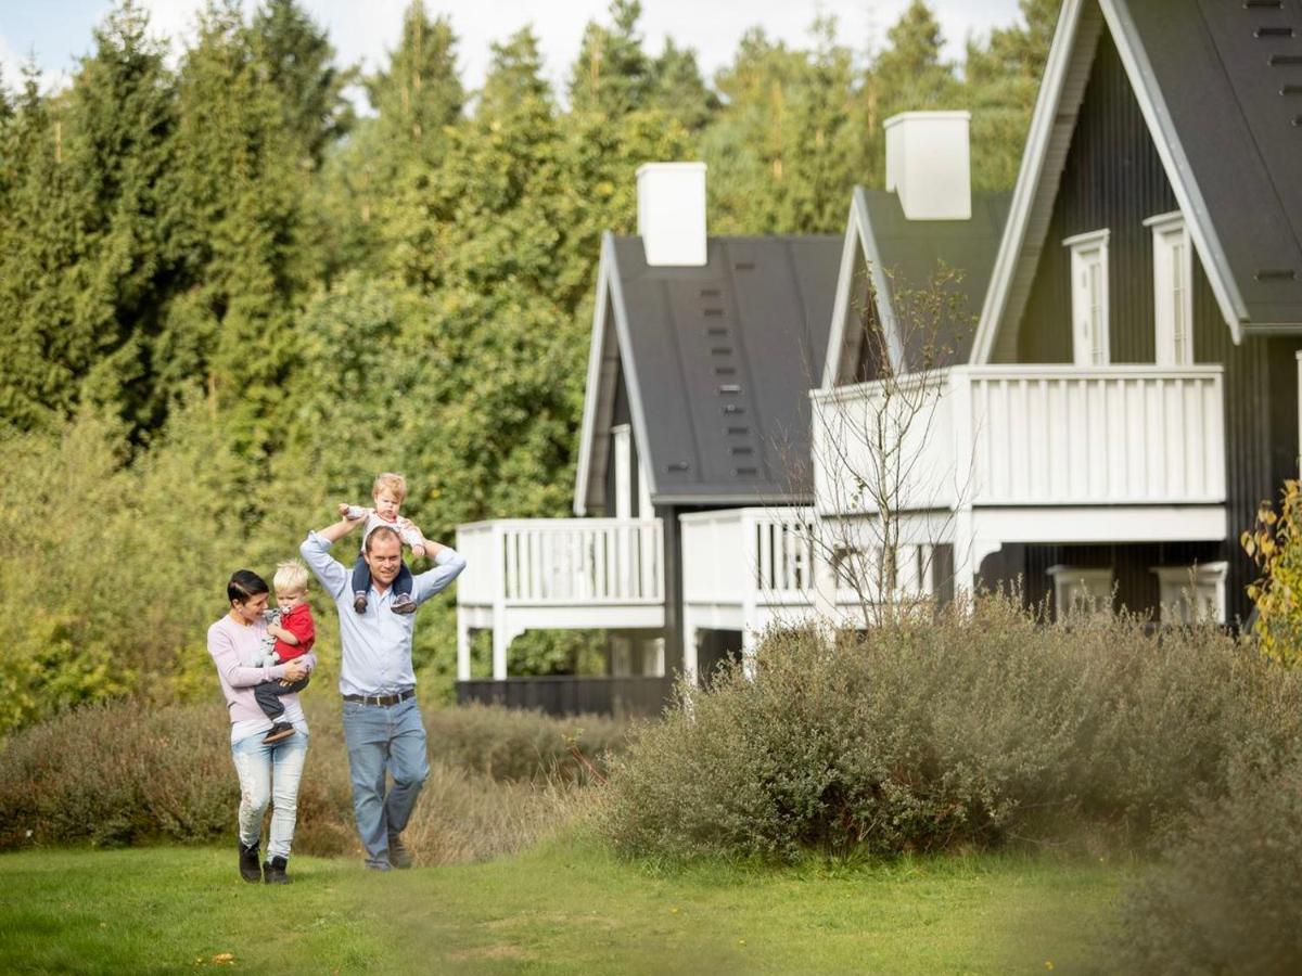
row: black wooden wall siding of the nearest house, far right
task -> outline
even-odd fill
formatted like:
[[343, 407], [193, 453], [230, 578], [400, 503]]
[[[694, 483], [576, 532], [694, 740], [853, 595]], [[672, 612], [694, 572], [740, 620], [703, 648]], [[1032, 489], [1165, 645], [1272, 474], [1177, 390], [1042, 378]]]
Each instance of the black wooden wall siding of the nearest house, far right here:
[[[1157, 151], [1139, 113], [1116, 47], [1104, 35], [1086, 86], [1062, 170], [1040, 264], [1018, 333], [1018, 359], [1072, 360], [1070, 252], [1061, 241], [1108, 228], [1109, 344], [1115, 363], [1155, 360], [1152, 234], [1146, 217], [1177, 210]], [[1130, 609], [1155, 606], [1150, 566], [1225, 560], [1229, 618], [1251, 609], [1245, 587], [1254, 578], [1238, 544], [1256, 506], [1275, 498], [1297, 475], [1297, 338], [1246, 338], [1234, 345], [1200, 262], [1194, 262], [1194, 358], [1225, 367], [1225, 467], [1228, 539], [1219, 545], [1009, 547], [988, 563], [990, 580], [1022, 574], [1030, 601], [1052, 591], [1055, 563], [1112, 565], [1118, 599]], [[1120, 541], [1120, 540], [1118, 540]]]

